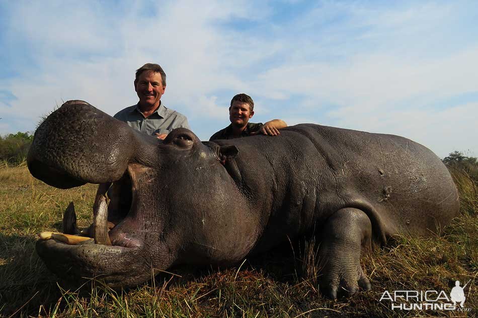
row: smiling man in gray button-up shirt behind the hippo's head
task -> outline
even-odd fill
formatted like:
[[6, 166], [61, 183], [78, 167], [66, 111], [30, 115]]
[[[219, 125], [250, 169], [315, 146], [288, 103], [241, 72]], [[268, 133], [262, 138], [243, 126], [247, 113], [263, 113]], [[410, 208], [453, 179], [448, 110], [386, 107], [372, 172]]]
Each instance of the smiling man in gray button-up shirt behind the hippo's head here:
[[175, 128], [189, 128], [186, 116], [168, 109], [161, 103], [166, 90], [166, 73], [158, 64], [146, 63], [136, 70], [134, 90], [136, 105], [116, 113], [114, 118], [142, 133], [165, 139]]

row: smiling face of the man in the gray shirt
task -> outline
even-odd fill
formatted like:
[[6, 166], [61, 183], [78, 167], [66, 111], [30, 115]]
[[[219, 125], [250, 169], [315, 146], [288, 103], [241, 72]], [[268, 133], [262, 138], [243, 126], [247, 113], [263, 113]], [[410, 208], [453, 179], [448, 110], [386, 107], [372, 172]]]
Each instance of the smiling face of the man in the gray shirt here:
[[160, 73], [144, 71], [134, 81], [134, 90], [138, 94], [140, 106], [151, 109], [156, 108], [160, 104], [166, 85], [163, 86]]

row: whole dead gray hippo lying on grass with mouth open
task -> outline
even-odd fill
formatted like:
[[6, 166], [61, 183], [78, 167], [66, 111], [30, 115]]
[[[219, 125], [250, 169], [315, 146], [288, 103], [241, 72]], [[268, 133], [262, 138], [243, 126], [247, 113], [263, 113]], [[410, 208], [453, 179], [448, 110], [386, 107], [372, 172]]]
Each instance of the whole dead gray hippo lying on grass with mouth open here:
[[60, 279], [112, 288], [314, 235], [321, 292], [336, 298], [371, 288], [360, 257], [372, 246], [440, 233], [459, 212], [448, 169], [426, 147], [313, 124], [215, 142], [178, 128], [163, 141], [70, 100], [39, 125], [27, 163], [57, 188], [99, 184], [93, 225], [76, 232], [87, 240], [43, 239], [36, 250]]

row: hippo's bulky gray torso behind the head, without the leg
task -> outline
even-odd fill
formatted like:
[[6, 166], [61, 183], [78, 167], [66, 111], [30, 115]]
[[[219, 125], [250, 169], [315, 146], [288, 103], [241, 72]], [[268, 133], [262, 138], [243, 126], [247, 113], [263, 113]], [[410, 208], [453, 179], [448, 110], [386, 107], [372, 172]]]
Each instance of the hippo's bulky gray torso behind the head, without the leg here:
[[277, 137], [217, 141], [235, 145], [239, 187], [262, 214], [263, 239], [294, 237], [320, 228], [335, 211], [362, 209], [374, 237], [439, 232], [458, 213], [458, 193], [448, 169], [409, 139], [301, 124]]

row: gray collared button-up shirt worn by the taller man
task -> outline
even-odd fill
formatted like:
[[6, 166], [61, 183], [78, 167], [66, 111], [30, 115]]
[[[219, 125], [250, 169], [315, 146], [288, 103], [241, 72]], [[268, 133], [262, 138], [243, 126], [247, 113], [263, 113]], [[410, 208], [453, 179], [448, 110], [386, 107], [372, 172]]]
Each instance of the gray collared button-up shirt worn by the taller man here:
[[114, 118], [128, 124], [129, 127], [155, 137], [155, 133], [169, 134], [173, 129], [189, 128], [188, 119], [183, 114], [166, 108], [163, 104], [149, 117], [144, 118], [138, 104], [125, 108], [116, 113]]

